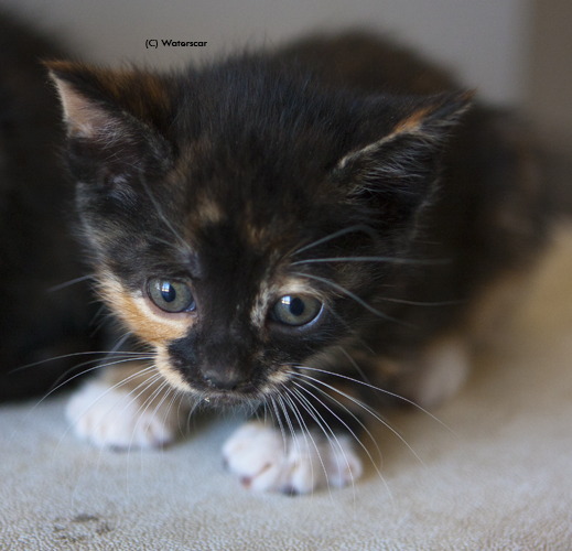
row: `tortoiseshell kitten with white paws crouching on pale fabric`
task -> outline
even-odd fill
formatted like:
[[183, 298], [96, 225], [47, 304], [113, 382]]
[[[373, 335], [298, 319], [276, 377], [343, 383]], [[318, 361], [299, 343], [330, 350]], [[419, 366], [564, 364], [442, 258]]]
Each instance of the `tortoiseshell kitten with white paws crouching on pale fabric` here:
[[246, 403], [276, 424], [225, 445], [245, 485], [343, 486], [361, 402], [452, 395], [544, 241], [520, 123], [377, 37], [180, 73], [47, 66], [99, 293], [151, 358], [73, 397], [97, 444], [161, 445], [193, 404]]

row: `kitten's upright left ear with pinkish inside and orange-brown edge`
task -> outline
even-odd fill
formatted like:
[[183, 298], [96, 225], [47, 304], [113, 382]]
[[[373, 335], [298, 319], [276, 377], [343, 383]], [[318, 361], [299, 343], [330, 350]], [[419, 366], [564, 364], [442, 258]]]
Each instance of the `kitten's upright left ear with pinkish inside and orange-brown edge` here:
[[77, 182], [125, 184], [134, 174], [164, 171], [172, 148], [166, 138], [170, 96], [163, 77], [74, 62], [44, 65], [62, 99], [67, 161]]

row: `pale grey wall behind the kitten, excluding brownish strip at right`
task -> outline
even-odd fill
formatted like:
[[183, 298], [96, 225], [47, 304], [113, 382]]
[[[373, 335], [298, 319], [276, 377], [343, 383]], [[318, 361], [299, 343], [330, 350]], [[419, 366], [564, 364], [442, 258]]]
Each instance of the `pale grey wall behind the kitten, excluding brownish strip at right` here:
[[[72, 37], [84, 57], [105, 64], [173, 65], [246, 42], [369, 25], [441, 60], [493, 100], [525, 98], [529, 0], [0, 0], [0, 6]], [[169, 37], [208, 45], [196, 52], [144, 47], [147, 39]]]

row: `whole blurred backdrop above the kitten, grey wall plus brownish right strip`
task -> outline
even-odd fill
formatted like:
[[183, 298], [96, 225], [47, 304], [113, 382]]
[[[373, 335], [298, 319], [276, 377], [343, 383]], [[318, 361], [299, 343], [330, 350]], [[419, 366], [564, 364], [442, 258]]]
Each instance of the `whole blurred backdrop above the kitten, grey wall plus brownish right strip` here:
[[[572, 151], [570, 0], [0, 0], [100, 64], [152, 67], [276, 44], [316, 29], [365, 26], [450, 67], [486, 99], [525, 108]], [[147, 39], [207, 41], [147, 50]]]

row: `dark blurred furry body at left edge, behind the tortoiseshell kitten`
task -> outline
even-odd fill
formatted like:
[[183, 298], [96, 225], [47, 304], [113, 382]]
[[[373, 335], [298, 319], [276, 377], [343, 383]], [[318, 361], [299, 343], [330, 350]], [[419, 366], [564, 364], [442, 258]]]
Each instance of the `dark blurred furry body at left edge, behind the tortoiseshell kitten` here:
[[100, 346], [89, 338], [87, 284], [51, 291], [85, 272], [68, 229], [74, 184], [58, 158], [60, 106], [40, 63], [62, 55], [63, 46], [0, 13], [2, 401], [47, 392], [77, 372], [77, 357], [60, 356]]

